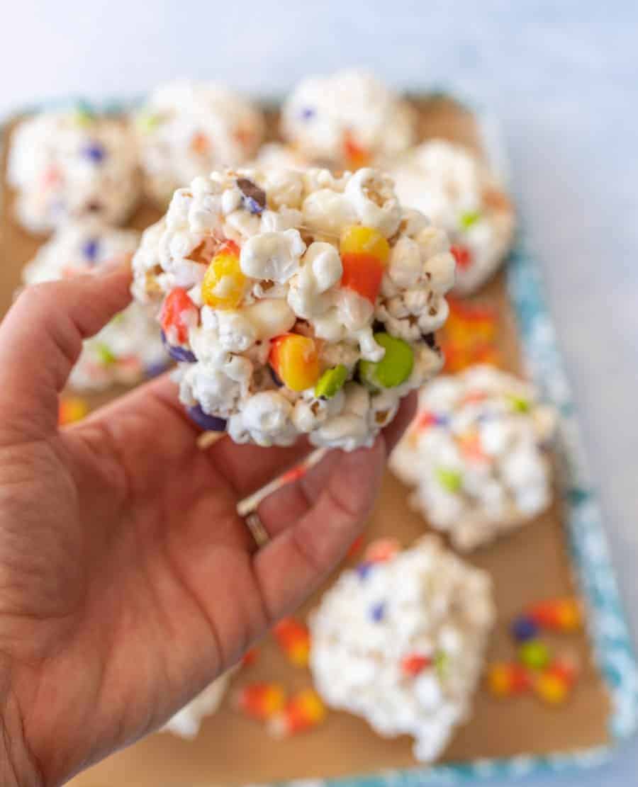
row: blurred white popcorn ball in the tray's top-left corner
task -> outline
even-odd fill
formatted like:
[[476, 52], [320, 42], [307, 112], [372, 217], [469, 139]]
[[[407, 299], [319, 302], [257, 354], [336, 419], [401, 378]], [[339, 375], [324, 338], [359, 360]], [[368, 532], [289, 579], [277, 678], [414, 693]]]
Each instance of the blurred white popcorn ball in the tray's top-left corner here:
[[140, 194], [135, 139], [122, 120], [83, 106], [43, 112], [14, 131], [7, 179], [29, 231], [87, 217], [122, 224]]

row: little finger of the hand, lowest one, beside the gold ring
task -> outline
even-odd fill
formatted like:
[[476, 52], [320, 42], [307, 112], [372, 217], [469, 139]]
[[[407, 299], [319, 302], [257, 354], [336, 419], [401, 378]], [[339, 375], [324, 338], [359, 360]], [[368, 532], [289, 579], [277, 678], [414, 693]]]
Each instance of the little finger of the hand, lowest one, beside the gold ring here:
[[386, 459], [384, 438], [371, 449], [333, 452], [316, 503], [254, 556], [254, 572], [270, 619], [296, 607], [347, 552], [363, 527]]

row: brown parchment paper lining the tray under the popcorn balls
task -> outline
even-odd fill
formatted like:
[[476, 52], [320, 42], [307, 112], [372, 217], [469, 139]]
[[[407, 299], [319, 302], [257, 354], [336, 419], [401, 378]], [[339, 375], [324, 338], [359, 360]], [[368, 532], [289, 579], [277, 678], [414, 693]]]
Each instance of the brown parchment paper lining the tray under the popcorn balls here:
[[[416, 102], [421, 135], [456, 139], [480, 151], [473, 116], [444, 98]], [[274, 116], [271, 115], [271, 130]], [[4, 167], [3, 170], [4, 172]], [[2, 183], [0, 203], [0, 309], [8, 309], [20, 284], [20, 268], [42, 239], [33, 238], [10, 218], [11, 195]], [[143, 228], [158, 213], [143, 206], [131, 224]], [[499, 312], [499, 349], [503, 366], [522, 371], [514, 314], [506, 294], [503, 273], [488, 283], [473, 300]], [[98, 405], [108, 396], [87, 397]], [[421, 516], [406, 504], [406, 487], [389, 473], [366, 531], [366, 541], [382, 535], [409, 545], [427, 530]], [[555, 502], [535, 522], [466, 558], [493, 578], [498, 623], [491, 638], [488, 660], [511, 658], [514, 646], [507, 633], [510, 620], [526, 605], [546, 597], [574, 592], [562, 510]], [[320, 593], [311, 599], [306, 614]], [[548, 708], [533, 696], [496, 700], [483, 687], [477, 690], [473, 715], [458, 729], [441, 758], [443, 762], [485, 757], [546, 755], [609, 742], [606, 722], [609, 699], [592, 660], [585, 634], [547, 637], [550, 645], [569, 648], [581, 660], [581, 678], [569, 702]], [[280, 681], [287, 689], [310, 685], [310, 674], [291, 667], [268, 637], [257, 663], [239, 671], [221, 710], [206, 719], [195, 741], [182, 741], [166, 733], [151, 735], [124, 752], [72, 780], [74, 787], [185, 787], [185, 785], [239, 785], [288, 778], [336, 777], [388, 768], [416, 767], [410, 739], [384, 740], [360, 719], [331, 712], [325, 726], [274, 741], [262, 726], [232, 709], [233, 689], [255, 680]]]

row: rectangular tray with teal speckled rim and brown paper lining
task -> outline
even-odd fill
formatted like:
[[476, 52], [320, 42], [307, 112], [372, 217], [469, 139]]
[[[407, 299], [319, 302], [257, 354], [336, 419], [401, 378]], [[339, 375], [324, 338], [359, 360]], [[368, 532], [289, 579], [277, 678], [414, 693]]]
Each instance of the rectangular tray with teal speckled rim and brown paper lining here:
[[[421, 136], [463, 142], [503, 165], [503, 148], [495, 124], [470, 102], [437, 91], [411, 97], [419, 110]], [[124, 105], [109, 105], [115, 112]], [[276, 105], [268, 106], [269, 131], [276, 138]], [[15, 119], [2, 131], [9, 139]], [[6, 152], [6, 144], [2, 145]], [[4, 172], [4, 158], [3, 158]], [[0, 238], [0, 309], [9, 308], [20, 285], [20, 268], [41, 240], [17, 227], [11, 218], [13, 195], [2, 179]], [[158, 218], [142, 205], [132, 227], [147, 227]], [[524, 227], [524, 217], [520, 220]], [[569, 381], [543, 296], [536, 260], [519, 232], [502, 272], [469, 299], [495, 315], [495, 348], [503, 368], [529, 376], [555, 405], [560, 416], [554, 450], [555, 500], [529, 527], [514, 531], [470, 554], [470, 563], [491, 574], [498, 619], [488, 661], [511, 652], [510, 622], [522, 609], [547, 597], [580, 596], [586, 630], [570, 635], [581, 671], [569, 700], [559, 707], [533, 696], [500, 700], [481, 685], [468, 722], [461, 726], [443, 756], [432, 766], [414, 760], [410, 740], [376, 736], [361, 719], [331, 711], [326, 722], [305, 734], [275, 741], [262, 726], [232, 708], [232, 691], [221, 709], [203, 723], [195, 741], [154, 734], [76, 777], [77, 787], [135, 784], [241, 785], [307, 781], [308, 787], [383, 787], [455, 784], [494, 776], [513, 777], [592, 767], [613, 755], [636, 730], [638, 671], [606, 545], [603, 517], [588, 477], [579, 441], [577, 413]], [[90, 408], [122, 392], [87, 397]], [[365, 540], [392, 536], [409, 545], [427, 530], [406, 504], [407, 490], [389, 473], [365, 532]], [[356, 558], [349, 559], [350, 562]], [[331, 579], [332, 581], [332, 579]], [[321, 593], [321, 591], [320, 591]], [[317, 603], [316, 594], [302, 610]], [[549, 637], [550, 645], [558, 645]], [[271, 638], [260, 645], [259, 658], [234, 678], [281, 682], [288, 689], [310, 685], [310, 674], [291, 667]]]

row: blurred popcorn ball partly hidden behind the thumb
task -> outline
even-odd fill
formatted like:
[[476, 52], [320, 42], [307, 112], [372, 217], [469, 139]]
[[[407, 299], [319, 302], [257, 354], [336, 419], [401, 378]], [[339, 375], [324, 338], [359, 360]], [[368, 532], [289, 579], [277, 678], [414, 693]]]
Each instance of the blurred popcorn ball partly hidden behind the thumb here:
[[[91, 272], [123, 254], [132, 254], [139, 233], [105, 227], [95, 220], [67, 224], [40, 247], [22, 273], [25, 284], [65, 279]], [[132, 385], [169, 363], [161, 344], [154, 309], [132, 303], [84, 342], [69, 383], [78, 390]]]

